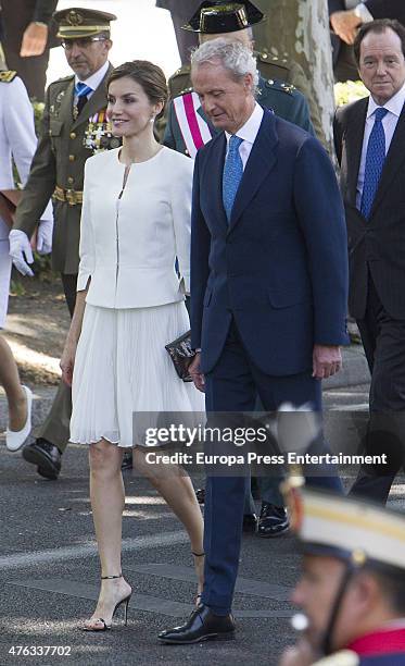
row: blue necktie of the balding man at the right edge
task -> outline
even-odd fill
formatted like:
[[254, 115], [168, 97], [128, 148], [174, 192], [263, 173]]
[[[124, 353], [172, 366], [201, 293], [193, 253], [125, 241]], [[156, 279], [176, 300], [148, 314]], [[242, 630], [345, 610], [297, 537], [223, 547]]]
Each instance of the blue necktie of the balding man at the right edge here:
[[385, 113], [388, 109], [376, 109], [375, 124], [368, 139], [360, 205], [360, 211], [367, 220], [370, 217], [385, 160], [385, 133], [381, 122]]

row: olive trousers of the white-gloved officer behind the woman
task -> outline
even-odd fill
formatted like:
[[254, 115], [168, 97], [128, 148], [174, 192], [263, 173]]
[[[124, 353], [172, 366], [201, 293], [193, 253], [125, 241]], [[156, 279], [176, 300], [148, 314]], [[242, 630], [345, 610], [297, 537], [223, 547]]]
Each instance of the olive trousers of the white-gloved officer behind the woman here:
[[[77, 275], [62, 274], [63, 291], [66, 304], [73, 317], [76, 301]], [[72, 416], [72, 391], [64, 382], [60, 382], [56, 395], [42, 425], [36, 431], [37, 437], [42, 437], [58, 446], [63, 454], [69, 437], [69, 423]]]

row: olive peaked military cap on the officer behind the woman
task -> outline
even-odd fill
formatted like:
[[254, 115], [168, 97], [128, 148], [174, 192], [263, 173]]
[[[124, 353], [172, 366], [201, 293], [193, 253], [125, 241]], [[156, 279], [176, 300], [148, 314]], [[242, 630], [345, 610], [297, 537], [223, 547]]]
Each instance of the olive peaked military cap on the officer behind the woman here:
[[79, 39], [110, 30], [110, 22], [115, 21], [116, 16], [98, 10], [71, 7], [55, 12], [53, 18], [58, 24], [56, 37]]

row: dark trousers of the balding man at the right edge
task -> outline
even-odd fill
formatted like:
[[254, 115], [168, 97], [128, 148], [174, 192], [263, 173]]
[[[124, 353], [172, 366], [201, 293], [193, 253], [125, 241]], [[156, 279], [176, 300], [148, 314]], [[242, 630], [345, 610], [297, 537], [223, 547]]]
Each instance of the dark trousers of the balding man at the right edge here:
[[351, 494], [385, 503], [405, 455], [405, 320], [387, 312], [371, 276], [366, 313], [357, 325], [371, 373], [365, 448], [370, 455], [385, 453], [389, 464], [363, 466]]

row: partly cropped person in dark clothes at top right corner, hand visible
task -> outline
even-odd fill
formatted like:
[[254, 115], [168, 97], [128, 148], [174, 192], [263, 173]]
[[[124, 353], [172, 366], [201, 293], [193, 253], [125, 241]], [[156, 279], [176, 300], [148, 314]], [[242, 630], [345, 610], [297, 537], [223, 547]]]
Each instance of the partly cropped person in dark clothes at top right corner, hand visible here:
[[328, 0], [331, 40], [333, 49], [333, 72], [337, 81], [357, 78], [357, 65], [352, 45], [357, 29], [375, 18], [396, 18], [405, 24], [403, 0]]

